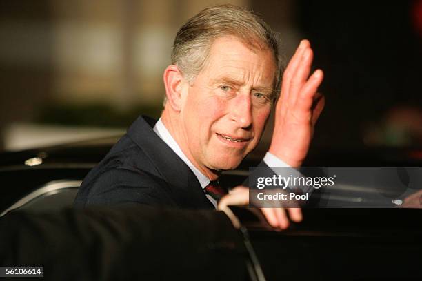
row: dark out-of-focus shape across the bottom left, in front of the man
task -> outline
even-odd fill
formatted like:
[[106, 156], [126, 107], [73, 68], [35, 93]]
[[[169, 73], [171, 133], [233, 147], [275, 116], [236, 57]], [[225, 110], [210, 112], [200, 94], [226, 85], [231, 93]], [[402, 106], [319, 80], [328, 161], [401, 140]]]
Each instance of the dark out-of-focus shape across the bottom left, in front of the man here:
[[0, 265], [46, 280], [245, 280], [245, 247], [218, 211], [152, 207], [16, 212], [0, 219]]

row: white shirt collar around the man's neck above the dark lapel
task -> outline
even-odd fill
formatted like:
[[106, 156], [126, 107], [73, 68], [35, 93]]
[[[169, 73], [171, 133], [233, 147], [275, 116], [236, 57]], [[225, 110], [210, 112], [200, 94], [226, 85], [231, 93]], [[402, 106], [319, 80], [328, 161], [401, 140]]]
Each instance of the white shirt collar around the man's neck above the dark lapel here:
[[181, 158], [181, 160], [183, 160], [184, 163], [186, 163], [186, 165], [188, 165], [188, 167], [190, 167], [195, 176], [197, 176], [201, 187], [204, 189], [210, 183], [210, 179], [202, 174], [201, 171], [199, 171], [199, 169], [190, 162], [188, 157], [185, 156], [170, 132], [168, 132], [168, 129], [165, 127], [163, 121], [161, 121], [161, 118], [159, 118], [159, 121], [155, 123], [154, 132], [164, 141], [164, 143], [167, 143], [167, 145], [177, 154], [177, 156]]

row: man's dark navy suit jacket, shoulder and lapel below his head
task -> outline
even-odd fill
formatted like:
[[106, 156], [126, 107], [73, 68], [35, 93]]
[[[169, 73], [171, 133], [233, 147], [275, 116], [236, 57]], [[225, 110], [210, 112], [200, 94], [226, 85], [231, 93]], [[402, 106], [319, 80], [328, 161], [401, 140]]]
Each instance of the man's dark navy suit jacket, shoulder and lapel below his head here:
[[75, 207], [140, 203], [183, 209], [214, 209], [197, 177], [139, 116], [128, 132], [83, 180]]

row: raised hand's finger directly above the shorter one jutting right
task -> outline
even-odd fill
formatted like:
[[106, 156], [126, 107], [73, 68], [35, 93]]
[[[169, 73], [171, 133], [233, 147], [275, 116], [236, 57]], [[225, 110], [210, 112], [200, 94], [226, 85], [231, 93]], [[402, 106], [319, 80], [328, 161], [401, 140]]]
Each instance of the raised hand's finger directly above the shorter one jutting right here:
[[313, 59], [314, 52], [312, 52], [311, 48], [306, 48], [305, 51], [303, 51], [301, 63], [297, 67], [296, 73], [292, 77], [292, 81], [290, 81], [290, 106], [296, 103], [301, 88], [308, 80]]

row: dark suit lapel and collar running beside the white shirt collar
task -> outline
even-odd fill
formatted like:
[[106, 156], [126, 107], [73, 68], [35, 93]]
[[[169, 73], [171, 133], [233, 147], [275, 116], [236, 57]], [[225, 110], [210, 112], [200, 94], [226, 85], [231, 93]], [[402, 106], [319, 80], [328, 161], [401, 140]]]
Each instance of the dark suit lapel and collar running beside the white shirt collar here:
[[214, 209], [188, 165], [153, 131], [156, 122], [147, 116], [139, 116], [128, 129], [128, 136], [150, 158], [180, 207]]

